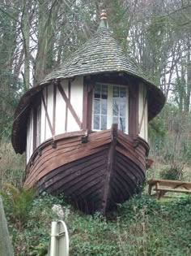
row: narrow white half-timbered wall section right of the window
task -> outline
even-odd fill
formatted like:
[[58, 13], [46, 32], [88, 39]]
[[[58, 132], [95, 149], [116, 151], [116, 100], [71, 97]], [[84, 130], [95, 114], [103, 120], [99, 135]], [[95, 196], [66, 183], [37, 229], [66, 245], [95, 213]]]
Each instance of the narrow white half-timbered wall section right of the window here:
[[148, 108], [145, 85], [140, 84], [138, 90], [138, 133], [148, 141]]

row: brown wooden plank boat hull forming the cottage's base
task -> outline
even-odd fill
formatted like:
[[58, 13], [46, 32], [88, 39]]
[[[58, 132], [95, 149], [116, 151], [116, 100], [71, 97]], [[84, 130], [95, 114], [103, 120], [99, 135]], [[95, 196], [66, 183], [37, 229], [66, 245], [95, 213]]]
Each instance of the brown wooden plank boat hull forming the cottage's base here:
[[68, 132], [40, 145], [26, 168], [25, 185], [39, 193], [64, 193], [79, 210], [103, 215], [138, 193], [145, 180], [149, 146], [112, 129]]

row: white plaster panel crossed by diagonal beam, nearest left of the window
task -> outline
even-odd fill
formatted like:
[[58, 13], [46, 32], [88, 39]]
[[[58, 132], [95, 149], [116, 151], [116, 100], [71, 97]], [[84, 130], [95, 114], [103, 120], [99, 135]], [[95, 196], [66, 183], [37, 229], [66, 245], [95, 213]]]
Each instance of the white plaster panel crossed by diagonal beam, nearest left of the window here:
[[[70, 103], [78, 115], [80, 122], [83, 121], [83, 77], [77, 77], [71, 83]], [[68, 110], [67, 132], [79, 131], [79, 124], [76, 123], [70, 110]]]

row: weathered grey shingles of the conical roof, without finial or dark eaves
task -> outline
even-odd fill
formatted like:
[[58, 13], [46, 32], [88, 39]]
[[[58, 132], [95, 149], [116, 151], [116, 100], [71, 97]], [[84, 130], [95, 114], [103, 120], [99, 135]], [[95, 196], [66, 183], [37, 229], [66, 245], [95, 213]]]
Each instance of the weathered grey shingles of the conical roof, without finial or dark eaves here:
[[[146, 80], [142, 71], [122, 50], [118, 41], [112, 37], [108, 28], [99, 28], [98, 31], [60, 67], [45, 77], [40, 85], [51, 80], [66, 79], [74, 76], [86, 76], [104, 72], [125, 72]], [[151, 82], [149, 82], [151, 84]]]

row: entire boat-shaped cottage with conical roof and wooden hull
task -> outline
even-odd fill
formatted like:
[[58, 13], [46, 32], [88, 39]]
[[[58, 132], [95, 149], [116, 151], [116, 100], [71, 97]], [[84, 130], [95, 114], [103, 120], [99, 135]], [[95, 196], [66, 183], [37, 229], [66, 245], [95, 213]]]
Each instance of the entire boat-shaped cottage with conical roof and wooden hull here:
[[94, 36], [20, 99], [12, 145], [26, 151], [25, 185], [106, 214], [143, 184], [148, 122], [164, 102], [103, 11]]

